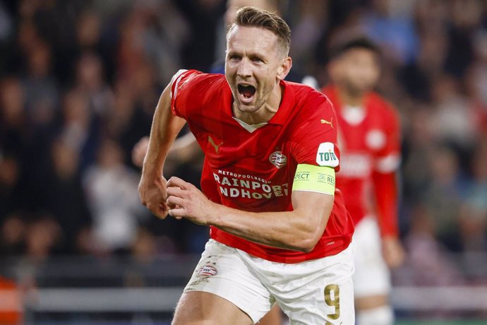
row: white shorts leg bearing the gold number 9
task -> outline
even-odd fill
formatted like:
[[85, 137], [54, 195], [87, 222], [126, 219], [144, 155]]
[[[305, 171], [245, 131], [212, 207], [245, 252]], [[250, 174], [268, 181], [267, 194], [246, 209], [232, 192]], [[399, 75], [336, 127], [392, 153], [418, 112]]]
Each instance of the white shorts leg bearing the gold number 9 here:
[[351, 244], [323, 259], [300, 264], [267, 263], [259, 273], [291, 324], [354, 325], [353, 254]]

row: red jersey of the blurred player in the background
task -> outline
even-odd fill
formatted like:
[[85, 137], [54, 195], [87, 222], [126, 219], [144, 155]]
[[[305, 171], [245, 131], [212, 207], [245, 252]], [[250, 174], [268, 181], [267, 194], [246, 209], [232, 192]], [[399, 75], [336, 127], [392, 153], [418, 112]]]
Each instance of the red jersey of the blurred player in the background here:
[[[337, 187], [354, 223], [365, 215], [378, 215], [383, 236], [397, 236], [397, 184], [400, 161], [400, 128], [397, 113], [377, 93], [368, 93], [363, 117], [348, 117], [334, 86], [322, 89], [335, 106], [342, 168]], [[375, 202], [374, 202], [375, 201]]]

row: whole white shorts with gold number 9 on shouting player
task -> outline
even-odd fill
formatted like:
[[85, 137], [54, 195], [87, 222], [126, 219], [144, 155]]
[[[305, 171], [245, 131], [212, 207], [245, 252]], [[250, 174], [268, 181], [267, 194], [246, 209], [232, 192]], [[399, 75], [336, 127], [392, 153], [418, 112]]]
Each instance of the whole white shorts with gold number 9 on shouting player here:
[[184, 292], [232, 302], [257, 323], [277, 303], [291, 324], [353, 325], [354, 245], [334, 256], [283, 264], [209, 240]]

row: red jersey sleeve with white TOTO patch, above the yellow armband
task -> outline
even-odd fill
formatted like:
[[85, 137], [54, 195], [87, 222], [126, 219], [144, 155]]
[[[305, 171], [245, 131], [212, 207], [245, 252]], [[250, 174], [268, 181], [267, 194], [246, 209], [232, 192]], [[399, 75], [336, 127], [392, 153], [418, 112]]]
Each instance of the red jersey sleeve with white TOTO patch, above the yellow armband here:
[[339, 170], [337, 117], [329, 100], [323, 100], [314, 114], [302, 122], [293, 135], [291, 155], [297, 164], [332, 167]]

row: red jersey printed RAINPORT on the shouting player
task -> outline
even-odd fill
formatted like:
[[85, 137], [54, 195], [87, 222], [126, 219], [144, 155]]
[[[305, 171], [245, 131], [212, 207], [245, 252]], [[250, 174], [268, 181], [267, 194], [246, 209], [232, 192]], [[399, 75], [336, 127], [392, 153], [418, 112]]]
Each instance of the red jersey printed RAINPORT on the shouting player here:
[[[324, 165], [320, 163], [324, 155], [319, 155], [323, 143], [335, 147], [332, 167], [338, 170], [337, 131], [325, 123], [336, 117], [323, 94], [282, 81], [279, 110], [267, 124], [252, 129], [233, 117], [232, 91], [224, 75], [190, 70], [173, 80], [172, 110], [186, 119], [205, 153], [201, 186], [212, 201], [241, 211], [292, 211], [296, 166]], [[348, 247], [353, 232], [339, 191], [325, 232], [309, 253], [269, 247], [210, 228], [214, 240], [280, 263], [335, 255]]]

